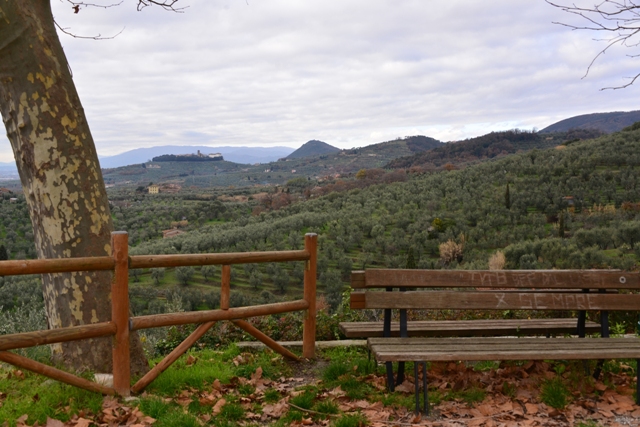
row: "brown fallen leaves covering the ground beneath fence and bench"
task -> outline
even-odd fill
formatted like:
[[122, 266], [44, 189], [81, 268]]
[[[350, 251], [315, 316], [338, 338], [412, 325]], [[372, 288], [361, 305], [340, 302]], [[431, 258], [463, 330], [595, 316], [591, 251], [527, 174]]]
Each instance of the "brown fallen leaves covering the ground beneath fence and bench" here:
[[[238, 365], [246, 363], [238, 357]], [[195, 363], [196, 360], [189, 360]], [[234, 363], [235, 364], [235, 363]], [[621, 365], [624, 367], [624, 365]], [[434, 427], [516, 427], [558, 426], [569, 427], [579, 422], [596, 423], [597, 426], [622, 427], [640, 425], [640, 406], [635, 404], [634, 378], [624, 369], [618, 373], [606, 372], [603, 381], [594, 381], [580, 371], [581, 365], [563, 369], [556, 373], [547, 362], [528, 362], [524, 365], [502, 363], [490, 370], [475, 370], [465, 363], [432, 363], [427, 372], [429, 394], [436, 397], [431, 405], [431, 415], [416, 415], [413, 402], [414, 378], [406, 376], [404, 383], [396, 387], [395, 395], [404, 396], [405, 405], [385, 405], [381, 396], [389, 396], [384, 374], [368, 374], [358, 378], [371, 386], [373, 394], [366, 399], [352, 399], [341, 386], [326, 387], [321, 379], [285, 377], [263, 378], [263, 369], [258, 367], [250, 378], [233, 377], [228, 384], [219, 380], [207, 383], [201, 389], [185, 387], [172, 397], [155, 396], [166, 404], [176, 404], [185, 411], [193, 402], [209, 409], [197, 415], [202, 425], [212, 425], [216, 417], [222, 416], [230, 402], [239, 404], [244, 410], [239, 426], [271, 425], [287, 417], [290, 411], [304, 415], [289, 421], [291, 426], [330, 426], [336, 418], [344, 415], [361, 415], [371, 427], [388, 426], [434, 426]], [[350, 373], [350, 375], [356, 375]], [[422, 382], [423, 372], [418, 380]], [[19, 374], [15, 375], [19, 378]], [[569, 403], [563, 408], [553, 408], [541, 401], [541, 385], [545, 381], [560, 379], [570, 384]], [[633, 386], [633, 387], [632, 387]], [[251, 390], [247, 393], [247, 387]], [[324, 414], [307, 410], [291, 403], [291, 399], [313, 387], [317, 402], [335, 403], [341, 414]], [[482, 390], [479, 401], [467, 401], [465, 392], [477, 388]], [[278, 399], [267, 402], [265, 393], [277, 392]], [[142, 396], [154, 397], [143, 393]], [[0, 393], [0, 404], [6, 394]], [[123, 402], [105, 397], [102, 411], [97, 414], [80, 411], [60, 421], [48, 418], [45, 424], [29, 423], [26, 415], [16, 420], [17, 427], [111, 427], [152, 426], [155, 419], [145, 415], [135, 402]], [[6, 424], [6, 423], [5, 423]], [[8, 425], [8, 424], [7, 424]], [[589, 424], [591, 425], [591, 424]]]

